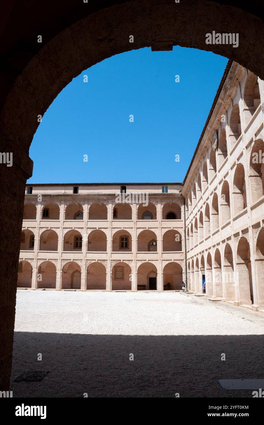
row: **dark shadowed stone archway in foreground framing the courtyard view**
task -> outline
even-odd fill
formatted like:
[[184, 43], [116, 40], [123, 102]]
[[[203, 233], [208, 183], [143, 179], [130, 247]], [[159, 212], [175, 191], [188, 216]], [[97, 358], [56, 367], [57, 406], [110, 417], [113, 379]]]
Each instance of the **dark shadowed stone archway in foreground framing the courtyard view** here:
[[[60, 91], [86, 68], [142, 47], [211, 50], [264, 79], [263, 2], [251, 1], [243, 9], [234, 7], [236, 3], [48, 0], [43, 6], [11, 0], [3, 5], [0, 150], [12, 152], [13, 166], [0, 164], [0, 390], [9, 388], [23, 202], [33, 166], [28, 149], [39, 125], [37, 116], [43, 116]], [[207, 45], [205, 34], [212, 31], [238, 33], [239, 46]], [[37, 42], [38, 35], [42, 43]]]

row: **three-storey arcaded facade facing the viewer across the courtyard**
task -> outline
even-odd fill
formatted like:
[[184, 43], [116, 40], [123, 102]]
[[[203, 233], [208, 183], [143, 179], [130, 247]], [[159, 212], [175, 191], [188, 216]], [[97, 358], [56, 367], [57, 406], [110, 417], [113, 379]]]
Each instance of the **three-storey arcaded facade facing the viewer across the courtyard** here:
[[182, 184], [26, 187], [18, 287], [179, 290]]

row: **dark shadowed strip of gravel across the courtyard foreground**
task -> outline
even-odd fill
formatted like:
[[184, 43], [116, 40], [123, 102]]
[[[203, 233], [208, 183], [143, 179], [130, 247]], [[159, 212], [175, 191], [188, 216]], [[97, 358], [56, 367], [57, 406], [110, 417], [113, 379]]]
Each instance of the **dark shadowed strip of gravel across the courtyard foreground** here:
[[[264, 335], [15, 332], [10, 390], [13, 397], [252, 397], [217, 380], [263, 378], [263, 346]], [[49, 373], [14, 381], [36, 371]]]

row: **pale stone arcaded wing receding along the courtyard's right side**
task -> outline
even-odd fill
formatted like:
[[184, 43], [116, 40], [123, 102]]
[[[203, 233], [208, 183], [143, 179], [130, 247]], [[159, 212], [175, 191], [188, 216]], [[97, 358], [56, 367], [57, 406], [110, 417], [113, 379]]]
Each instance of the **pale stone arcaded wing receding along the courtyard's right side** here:
[[202, 292], [205, 275], [206, 296], [262, 309], [263, 104], [263, 81], [234, 62], [182, 190], [188, 288]]

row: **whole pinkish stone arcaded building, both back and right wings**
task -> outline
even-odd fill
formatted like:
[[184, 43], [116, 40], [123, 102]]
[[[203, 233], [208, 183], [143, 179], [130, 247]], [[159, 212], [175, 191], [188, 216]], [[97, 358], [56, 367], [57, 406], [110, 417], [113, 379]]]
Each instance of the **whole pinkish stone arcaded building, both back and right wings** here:
[[[18, 286], [162, 291], [184, 280], [263, 309], [263, 105], [263, 81], [233, 62], [183, 183], [27, 186]], [[148, 205], [116, 202], [122, 191]]]

